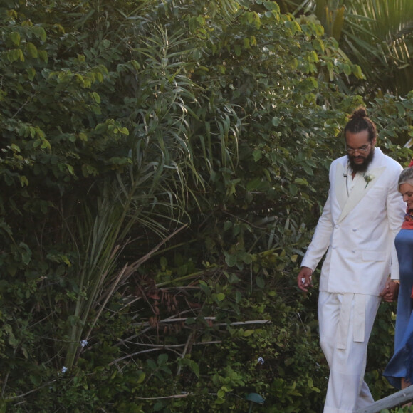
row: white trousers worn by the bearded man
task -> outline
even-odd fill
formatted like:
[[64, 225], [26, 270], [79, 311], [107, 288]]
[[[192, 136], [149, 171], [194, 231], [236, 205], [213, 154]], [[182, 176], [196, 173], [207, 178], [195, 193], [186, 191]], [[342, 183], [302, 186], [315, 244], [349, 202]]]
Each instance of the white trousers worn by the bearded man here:
[[378, 296], [320, 291], [320, 346], [330, 367], [324, 413], [352, 413], [374, 402], [364, 381]]

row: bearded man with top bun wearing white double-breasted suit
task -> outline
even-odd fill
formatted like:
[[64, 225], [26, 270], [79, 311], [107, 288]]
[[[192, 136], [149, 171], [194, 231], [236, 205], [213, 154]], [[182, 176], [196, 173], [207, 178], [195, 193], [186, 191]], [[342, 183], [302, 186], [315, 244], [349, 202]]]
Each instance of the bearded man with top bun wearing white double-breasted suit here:
[[297, 276], [308, 291], [325, 252], [318, 298], [320, 346], [330, 367], [324, 413], [374, 402], [364, 381], [367, 343], [381, 298], [397, 296], [394, 237], [404, 219], [402, 167], [375, 147], [377, 130], [358, 108], [344, 130], [347, 156], [330, 166], [330, 191]]

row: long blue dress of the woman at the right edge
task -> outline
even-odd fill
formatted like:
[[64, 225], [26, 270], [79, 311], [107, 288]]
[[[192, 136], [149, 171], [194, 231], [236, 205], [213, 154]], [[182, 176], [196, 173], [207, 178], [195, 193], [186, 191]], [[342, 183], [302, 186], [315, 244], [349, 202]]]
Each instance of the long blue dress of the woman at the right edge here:
[[413, 371], [413, 230], [401, 229], [394, 244], [399, 258], [400, 288], [397, 300], [394, 355], [383, 375], [390, 384], [400, 389], [402, 377]]

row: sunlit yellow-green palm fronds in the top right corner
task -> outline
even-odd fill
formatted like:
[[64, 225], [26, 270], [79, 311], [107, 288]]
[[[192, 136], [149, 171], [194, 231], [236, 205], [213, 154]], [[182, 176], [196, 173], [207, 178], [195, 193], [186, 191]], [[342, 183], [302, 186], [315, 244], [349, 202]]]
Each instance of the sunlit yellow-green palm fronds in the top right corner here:
[[335, 38], [352, 63], [367, 78], [351, 86], [362, 95], [393, 93], [404, 96], [413, 89], [410, 76], [413, 50], [413, 4], [409, 0], [283, 0], [294, 15], [315, 14], [325, 36]]

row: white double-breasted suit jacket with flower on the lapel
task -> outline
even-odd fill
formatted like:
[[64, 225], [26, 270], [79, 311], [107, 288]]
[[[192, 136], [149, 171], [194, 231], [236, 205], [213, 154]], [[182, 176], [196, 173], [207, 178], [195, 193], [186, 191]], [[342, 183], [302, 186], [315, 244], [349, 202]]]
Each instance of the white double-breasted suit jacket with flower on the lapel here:
[[328, 250], [320, 291], [378, 296], [387, 276], [399, 278], [394, 237], [406, 204], [397, 191], [402, 167], [375, 148], [366, 177], [347, 195], [347, 156], [330, 166], [330, 191], [301, 266], [312, 270]]

